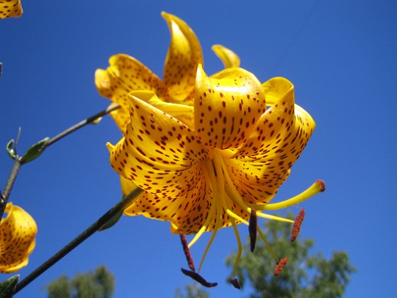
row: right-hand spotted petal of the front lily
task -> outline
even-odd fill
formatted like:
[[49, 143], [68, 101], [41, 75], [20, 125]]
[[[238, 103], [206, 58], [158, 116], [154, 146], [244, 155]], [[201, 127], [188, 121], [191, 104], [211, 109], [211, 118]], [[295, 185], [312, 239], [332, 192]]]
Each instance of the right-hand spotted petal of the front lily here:
[[315, 128], [313, 118], [295, 104], [291, 82], [276, 78], [268, 86], [267, 94], [278, 94], [276, 103], [259, 118], [235, 159], [227, 160], [233, 180], [242, 185], [240, 191], [252, 200], [265, 199], [262, 202], [268, 202], [286, 180]]

